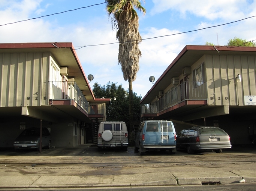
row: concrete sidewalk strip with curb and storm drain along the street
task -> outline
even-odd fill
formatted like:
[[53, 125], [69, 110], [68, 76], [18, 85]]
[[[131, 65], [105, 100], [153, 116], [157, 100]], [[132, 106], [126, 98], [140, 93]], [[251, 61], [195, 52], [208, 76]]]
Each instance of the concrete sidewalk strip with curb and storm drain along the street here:
[[[255, 171], [159, 172], [87, 176], [2, 176], [0, 188], [128, 187], [256, 182]], [[243, 183], [241, 183], [243, 184]]]

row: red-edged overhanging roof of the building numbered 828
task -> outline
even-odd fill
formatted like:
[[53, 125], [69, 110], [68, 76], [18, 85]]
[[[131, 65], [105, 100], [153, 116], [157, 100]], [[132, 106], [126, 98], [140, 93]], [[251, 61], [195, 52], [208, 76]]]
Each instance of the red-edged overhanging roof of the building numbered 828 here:
[[88, 79], [84, 73], [82, 65], [78, 59], [75, 48], [70, 42], [65, 43], [2, 43], [0, 53], [20, 53], [20, 52], [51, 52], [60, 67], [67, 67], [68, 78], [74, 78], [76, 84], [90, 102], [109, 102], [109, 98], [95, 98]]

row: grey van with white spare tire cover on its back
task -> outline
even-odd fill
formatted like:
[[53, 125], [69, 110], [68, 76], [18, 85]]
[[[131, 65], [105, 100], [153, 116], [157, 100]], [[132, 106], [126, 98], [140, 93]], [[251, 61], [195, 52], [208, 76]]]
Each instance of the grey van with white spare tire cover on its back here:
[[128, 131], [126, 123], [123, 121], [103, 121], [99, 125], [97, 147], [102, 148], [122, 148], [127, 151]]

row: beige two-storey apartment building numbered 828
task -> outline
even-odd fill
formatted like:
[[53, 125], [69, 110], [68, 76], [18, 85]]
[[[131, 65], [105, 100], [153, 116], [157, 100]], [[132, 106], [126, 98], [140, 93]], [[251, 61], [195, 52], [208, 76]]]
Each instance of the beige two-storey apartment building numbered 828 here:
[[109, 98], [95, 98], [72, 43], [0, 44], [0, 147], [23, 129], [51, 131], [51, 145], [93, 143]]

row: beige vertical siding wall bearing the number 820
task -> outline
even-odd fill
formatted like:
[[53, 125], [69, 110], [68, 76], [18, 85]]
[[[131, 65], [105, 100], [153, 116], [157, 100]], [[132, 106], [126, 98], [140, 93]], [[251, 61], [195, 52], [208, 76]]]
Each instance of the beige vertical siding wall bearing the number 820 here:
[[[209, 105], [244, 105], [244, 95], [256, 95], [256, 57], [206, 55]], [[237, 82], [240, 74], [242, 81]]]

